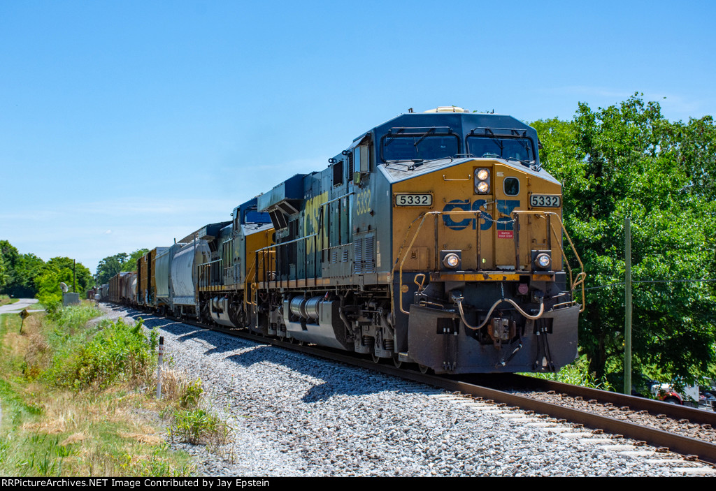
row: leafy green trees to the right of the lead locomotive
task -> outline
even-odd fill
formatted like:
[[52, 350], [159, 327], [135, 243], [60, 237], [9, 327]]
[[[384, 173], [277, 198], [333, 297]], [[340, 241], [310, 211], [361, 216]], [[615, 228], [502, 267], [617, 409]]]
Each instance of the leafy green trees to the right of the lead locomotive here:
[[[543, 166], [563, 182], [564, 222], [584, 262], [580, 349], [601, 377], [624, 343], [624, 218], [632, 220], [634, 369], [692, 381], [716, 360], [712, 279], [716, 127], [710, 117], [669, 122], [639, 94], [572, 121], [533, 126]], [[657, 374], [654, 374], [657, 375]]]

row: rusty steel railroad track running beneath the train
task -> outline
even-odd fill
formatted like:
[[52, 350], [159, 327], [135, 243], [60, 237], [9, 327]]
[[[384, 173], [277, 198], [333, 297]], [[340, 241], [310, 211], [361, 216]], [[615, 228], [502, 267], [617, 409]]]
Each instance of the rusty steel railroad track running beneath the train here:
[[[561, 382], [500, 375], [430, 375], [419, 370], [375, 363], [361, 355], [347, 354], [314, 345], [294, 344], [276, 338], [251, 334], [240, 329], [210, 326], [188, 319], [167, 316], [203, 329], [212, 329], [263, 344], [293, 349], [316, 357], [332, 359], [367, 370], [374, 370], [440, 387], [455, 395], [462, 395], [475, 404], [516, 407], [528, 414], [536, 413], [584, 426], [599, 434], [606, 432], [648, 444], [659, 452], [677, 452], [688, 460], [700, 460], [716, 465], [716, 413], [690, 407], [671, 405], [616, 392], [589, 389]], [[498, 388], [499, 387], [499, 388]], [[465, 400], [469, 403], [469, 400]]]

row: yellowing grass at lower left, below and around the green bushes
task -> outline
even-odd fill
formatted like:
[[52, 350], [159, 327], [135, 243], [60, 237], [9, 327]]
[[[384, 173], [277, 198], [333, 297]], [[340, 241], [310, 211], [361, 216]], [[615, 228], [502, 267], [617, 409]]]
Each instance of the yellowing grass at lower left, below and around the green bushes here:
[[62, 331], [32, 314], [20, 334], [15, 317], [0, 316], [0, 475], [193, 474], [189, 457], [171, 452], [163, 429], [156, 429], [163, 427], [158, 412], [175, 405], [185, 377], [165, 370], [160, 401], [149, 369], [104, 390], [57, 387], [44, 370]]

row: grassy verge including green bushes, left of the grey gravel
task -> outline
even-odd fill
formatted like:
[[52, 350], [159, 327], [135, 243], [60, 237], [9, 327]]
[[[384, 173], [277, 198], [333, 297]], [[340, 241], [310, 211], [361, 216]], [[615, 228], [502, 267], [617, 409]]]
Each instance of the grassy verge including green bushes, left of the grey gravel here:
[[[156, 400], [155, 337], [141, 324], [87, 320], [89, 304], [0, 316], [0, 475], [185, 476], [160, 414], [194, 410], [200, 381], [165, 371]], [[91, 327], [87, 327], [91, 326]], [[167, 382], [168, 381], [168, 382]]]

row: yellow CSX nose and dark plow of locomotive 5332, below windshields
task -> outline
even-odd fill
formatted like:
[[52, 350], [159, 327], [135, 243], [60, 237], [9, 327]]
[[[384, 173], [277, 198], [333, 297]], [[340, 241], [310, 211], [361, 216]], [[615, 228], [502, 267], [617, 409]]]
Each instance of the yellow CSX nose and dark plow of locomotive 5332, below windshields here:
[[[465, 158], [397, 182], [393, 194], [411, 359], [437, 372], [500, 371], [507, 358], [513, 371], [552, 370], [574, 359], [579, 306], [552, 309], [566, 291], [555, 179], [521, 162]], [[549, 357], [533, 335], [544, 329], [561, 347]]]

